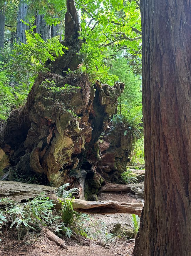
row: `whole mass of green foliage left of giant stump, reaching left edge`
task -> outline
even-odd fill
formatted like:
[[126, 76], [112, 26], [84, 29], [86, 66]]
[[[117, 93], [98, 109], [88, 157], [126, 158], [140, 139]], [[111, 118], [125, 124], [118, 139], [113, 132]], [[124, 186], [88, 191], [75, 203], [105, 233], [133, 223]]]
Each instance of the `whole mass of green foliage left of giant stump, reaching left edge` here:
[[23, 105], [36, 76], [49, 70], [45, 68], [46, 61], [54, 61], [66, 49], [59, 42], [59, 36], [45, 42], [33, 32], [35, 27], [26, 30], [26, 44], [14, 43], [10, 54], [2, 53], [6, 63], [0, 62], [0, 119], [5, 120], [12, 109]]

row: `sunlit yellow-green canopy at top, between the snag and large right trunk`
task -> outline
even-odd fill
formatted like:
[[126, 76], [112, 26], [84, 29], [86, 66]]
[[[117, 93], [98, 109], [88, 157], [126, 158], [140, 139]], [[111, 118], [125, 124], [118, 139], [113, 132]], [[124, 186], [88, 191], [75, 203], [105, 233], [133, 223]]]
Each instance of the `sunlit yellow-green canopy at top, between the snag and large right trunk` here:
[[136, 1], [80, 0], [76, 6], [81, 9], [83, 31], [86, 34], [93, 32], [91, 41], [98, 47], [129, 49], [131, 54], [140, 49], [140, 37], [138, 40], [129, 40], [137, 37], [131, 26], [139, 30], [141, 28]]

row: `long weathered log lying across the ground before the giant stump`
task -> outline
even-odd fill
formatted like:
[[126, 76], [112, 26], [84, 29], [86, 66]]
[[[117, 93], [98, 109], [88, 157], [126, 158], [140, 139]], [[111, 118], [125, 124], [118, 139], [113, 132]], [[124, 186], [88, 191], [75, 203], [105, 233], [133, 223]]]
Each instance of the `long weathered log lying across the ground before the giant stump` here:
[[[8, 197], [12, 200], [21, 202], [29, 198], [35, 198], [40, 193], [45, 193], [53, 200], [56, 209], [61, 209], [62, 204], [56, 197], [55, 188], [43, 185], [34, 185], [14, 181], [0, 181], [0, 198]], [[123, 203], [110, 200], [105, 201], [85, 201], [73, 199], [73, 208], [75, 211], [94, 214], [110, 213], [130, 213], [140, 216], [143, 209], [143, 203]]]

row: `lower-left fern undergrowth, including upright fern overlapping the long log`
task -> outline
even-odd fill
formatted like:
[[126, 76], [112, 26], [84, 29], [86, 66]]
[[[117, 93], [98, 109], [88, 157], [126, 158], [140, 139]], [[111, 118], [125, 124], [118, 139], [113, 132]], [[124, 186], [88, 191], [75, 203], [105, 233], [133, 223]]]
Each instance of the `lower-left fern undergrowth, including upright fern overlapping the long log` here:
[[[15, 234], [18, 240], [26, 236], [36, 236], [42, 232], [43, 226], [57, 234], [59, 237], [72, 237], [79, 234], [88, 237], [83, 221], [88, 215], [73, 210], [73, 194], [78, 189], [66, 190], [70, 184], [58, 188], [56, 195], [62, 197], [62, 209], [53, 210], [53, 201], [41, 193], [36, 198], [15, 202], [9, 198], [0, 199], [0, 239], [7, 230]], [[67, 198], [67, 199], [66, 199]]]

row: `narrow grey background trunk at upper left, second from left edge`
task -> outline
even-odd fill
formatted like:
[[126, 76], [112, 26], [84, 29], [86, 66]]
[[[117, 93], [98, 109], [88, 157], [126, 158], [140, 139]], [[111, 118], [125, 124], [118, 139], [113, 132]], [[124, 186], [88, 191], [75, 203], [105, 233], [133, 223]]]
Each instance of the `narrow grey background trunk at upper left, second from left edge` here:
[[27, 30], [27, 26], [22, 23], [21, 19], [26, 21], [27, 8], [27, 4], [24, 1], [20, 0], [18, 22], [16, 28], [16, 40], [17, 42], [20, 41], [21, 43], [26, 43], [25, 30]]

